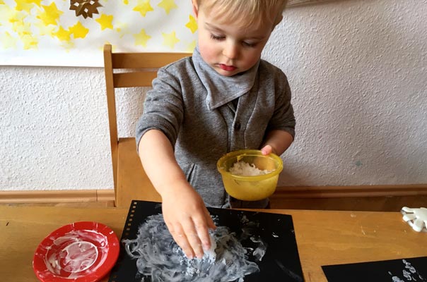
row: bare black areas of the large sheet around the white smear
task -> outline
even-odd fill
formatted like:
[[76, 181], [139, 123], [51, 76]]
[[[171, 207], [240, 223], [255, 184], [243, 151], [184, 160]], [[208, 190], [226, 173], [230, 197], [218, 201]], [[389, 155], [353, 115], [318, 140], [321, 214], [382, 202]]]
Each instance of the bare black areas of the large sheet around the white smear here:
[[[248, 257], [249, 260], [257, 263], [260, 271], [246, 275], [243, 281], [304, 281], [292, 216], [233, 209], [208, 209], [211, 216], [216, 217], [217, 226], [227, 226], [236, 236], [239, 236], [243, 232], [242, 227], [245, 221], [258, 224], [257, 228], [252, 230], [252, 235], [262, 238], [264, 243], [267, 244], [267, 250], [261, 261], [256, 260], [252, 256]], [[136, 266], [136, 259], [129, 257], [126, 250], [124, 250], [123, 242], [134, 240], [137, 237], [139, 227], [146, 222], [146, 219], [161, 214], [161, 212], [160, 203], [132, 201], [120, 240], [122, 245], [119, 259], [110, 274], [110, 282], [152, 281], [151, 276], [139, 273], [138, 266]], [[242, 241], [241, 244], [243, 247], [253, 247], [250, 240]], [[241, 280], [238, 279], [236, 281]]]

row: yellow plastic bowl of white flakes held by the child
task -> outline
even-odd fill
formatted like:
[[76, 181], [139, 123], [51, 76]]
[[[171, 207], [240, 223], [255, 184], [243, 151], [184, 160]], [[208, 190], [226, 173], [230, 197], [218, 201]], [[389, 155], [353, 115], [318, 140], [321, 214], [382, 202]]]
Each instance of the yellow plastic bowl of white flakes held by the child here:
[[[230, 168], [238, 161], [245, 161], [260, 170], [267, 169], [271, 172], [260, 176], [233, 175]], [[230, 196], [243, 201], [257, 201], [271, 196], [276, 190], [283, 161], [276, 154], [264, 156], [259, 150], [243, 149], [224, 155], [218, 160], [216, 167]]]

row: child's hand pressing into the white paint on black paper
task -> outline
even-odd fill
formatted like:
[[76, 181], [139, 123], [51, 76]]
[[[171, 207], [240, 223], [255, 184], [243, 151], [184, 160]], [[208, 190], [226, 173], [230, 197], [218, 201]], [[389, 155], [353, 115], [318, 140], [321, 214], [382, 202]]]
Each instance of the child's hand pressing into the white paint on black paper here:
[[199, 194], [189, 184], [186, 186], [163, 197], [163, 218], [185, 255], [201, 258], [211, 247], [209, 228], [216, 226]]

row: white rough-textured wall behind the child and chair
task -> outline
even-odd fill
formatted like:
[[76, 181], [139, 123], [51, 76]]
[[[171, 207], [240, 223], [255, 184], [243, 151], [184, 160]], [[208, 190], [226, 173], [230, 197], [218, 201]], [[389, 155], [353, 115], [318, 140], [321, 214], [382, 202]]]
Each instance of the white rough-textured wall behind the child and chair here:
[[[426, 15], [425, 0], [286, 11], [264, 51], [298, 122], [279, 185], [427, 183]], [[0, 66], [0, 81], [0, 190], [112, 188], [103, 69]], [[142, 100], [119, 95], [122, 135]]]

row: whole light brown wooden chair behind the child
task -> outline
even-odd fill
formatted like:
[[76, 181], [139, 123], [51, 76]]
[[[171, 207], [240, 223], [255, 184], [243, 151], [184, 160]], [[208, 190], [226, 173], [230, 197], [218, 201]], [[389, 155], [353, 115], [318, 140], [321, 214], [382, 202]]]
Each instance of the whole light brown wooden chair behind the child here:
[[191, 56], [191, 54], [112, 53], [110, 44], [104, 46], [112, 171], [117, 207], [129, 207], [131, 200], [160, 202], [161, 198], [142, 168], [136, 153], [135, 138], [119, 137], [117, 134], [115, 88], [151, 87], [158, 68], [186, 56]]

